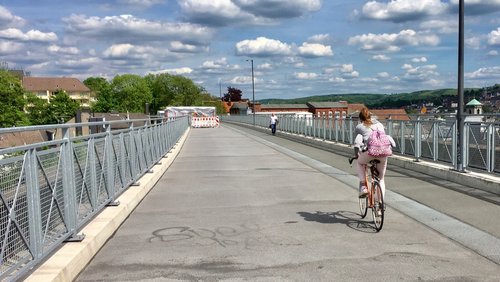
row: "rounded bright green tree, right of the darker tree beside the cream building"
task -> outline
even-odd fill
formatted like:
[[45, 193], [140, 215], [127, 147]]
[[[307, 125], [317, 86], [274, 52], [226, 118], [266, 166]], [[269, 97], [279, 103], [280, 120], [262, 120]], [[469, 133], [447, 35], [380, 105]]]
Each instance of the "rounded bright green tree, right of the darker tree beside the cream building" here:
[[120, 112], [143, 112], [145, 104], [153, 100], [146, 79], [134, 74], [115, 76], [111, 82], [111, 97], [113, 103], [116, 101], [115, 110]]

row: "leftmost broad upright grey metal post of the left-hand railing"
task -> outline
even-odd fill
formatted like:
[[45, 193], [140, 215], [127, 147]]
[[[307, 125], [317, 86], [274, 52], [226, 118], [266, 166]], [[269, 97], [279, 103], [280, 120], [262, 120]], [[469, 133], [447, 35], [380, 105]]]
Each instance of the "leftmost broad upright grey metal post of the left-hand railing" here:
[[[40, 185], [38, 183], [38, 169], [37, 169], [37, 156], [36, 149], [30, 149], [26, 151], [24, 155], [24, 163], [26, 170], [26, 201], [28, 206], [28, 228], [29, 228], [29, 248], [33, 258], [36, 260], [40, 258], [43, 254], [43, 243], [42, 243], [42, 214], [41, 214], [41, 203], [40, 203]], [[19, 187], [17, 188], [19, 189]], [[9, 217], [15, 218], [15, 207], [19, 201], [19, 195], [12, 202], [10, 207]], [[15, 228], [12, 221], [9, 220], [9, 224], [6, 229]], [[6, 236], [5, 234], [4, 236]], [[8, 238], [7, 238], [8, 240]], [[2, 258], [3, 259], [3, 258]]]

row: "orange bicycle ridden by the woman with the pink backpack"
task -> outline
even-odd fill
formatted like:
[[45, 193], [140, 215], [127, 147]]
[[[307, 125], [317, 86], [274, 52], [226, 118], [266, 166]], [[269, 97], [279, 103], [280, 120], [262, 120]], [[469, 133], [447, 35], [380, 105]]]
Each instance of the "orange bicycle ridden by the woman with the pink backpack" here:
[[[355, 158], [349, 159], [349, 164], [352, 166], [352, 162]], [[375, 225], [375, 230], [379, 232], [382, 230], [384, 225], [384, 196], [382, 194], [382, 188], [380, 187], [379, 172], [377, 170], [377, 164], [380, 160], [374, 159], [368, 162], [366, 169], [370, 170], [370, 173], [366, 173], [365, 183], [368, 188], [368, 196], [364, 198], [359, 198], [359, 211], [361, 218], [365, 218], [368, 213], [368, 208], [372, 210], [373, 223]], [[370, 179], [371, 181], [368, 181]]]

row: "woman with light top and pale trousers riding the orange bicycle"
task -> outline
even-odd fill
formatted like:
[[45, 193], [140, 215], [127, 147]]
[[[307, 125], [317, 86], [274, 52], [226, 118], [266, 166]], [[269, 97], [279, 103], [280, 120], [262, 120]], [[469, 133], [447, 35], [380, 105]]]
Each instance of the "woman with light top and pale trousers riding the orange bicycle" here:
[[[368, 195], [368, 188], [366, 186], [366, 164], [373, 159], [378, 159], [380, 162], [377, 164], [377, 170], [380, 178], [380, 188], [382, 195], [385, 196], [385, 171], [387, 169], [387, 157], [373, 157], [368, 155], [367, 143], [373, 130], [380, 130], [385, 132], [384, 125], [379, 121], [372, 118], [368, 108], [363, 107], [359, 112], [360, 123], [354, 130], [356, 139], [354, 140], [354, 158], [358, 159], [358, 177], [359, 177], [359, 197], [364, 198]], [[394, 140], [391, 140], [391, 145], [395, 147]]]

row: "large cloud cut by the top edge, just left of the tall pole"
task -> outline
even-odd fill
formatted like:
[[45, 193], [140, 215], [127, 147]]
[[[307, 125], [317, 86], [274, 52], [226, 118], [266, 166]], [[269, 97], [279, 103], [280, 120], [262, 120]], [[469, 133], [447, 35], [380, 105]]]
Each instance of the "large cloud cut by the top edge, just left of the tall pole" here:
[[392, 0], [388, 3], [369, 1], [363, 6], [365, 18], [404, 22], [419, 20], [445, 12], [447, 4], [440, 0]]

